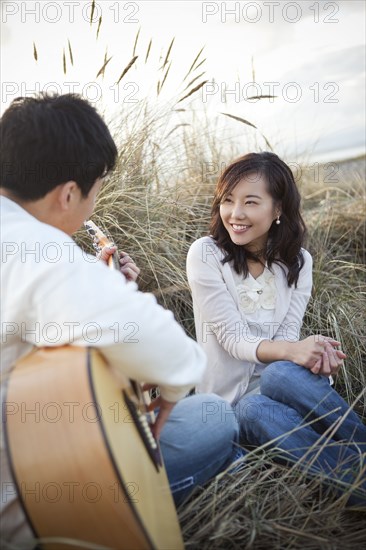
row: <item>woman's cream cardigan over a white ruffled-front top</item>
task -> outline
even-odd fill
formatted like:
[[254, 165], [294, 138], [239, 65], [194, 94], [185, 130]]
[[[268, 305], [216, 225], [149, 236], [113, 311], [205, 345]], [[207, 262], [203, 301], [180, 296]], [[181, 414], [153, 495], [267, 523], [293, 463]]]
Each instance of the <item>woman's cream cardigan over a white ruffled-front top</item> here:
[[254, 279], [243, 279], [212, 237], [195, 241], [187, 255], [198, 343], [208, 367], [197, 391], [216, 393], [235, 404], [253, 375], [265, 368], [257, 357], [263, 340], [297, 341], [312, 288], [312, 258], [302, 250], [304, 265], [295, 288], [287, 269], [273, 264]]

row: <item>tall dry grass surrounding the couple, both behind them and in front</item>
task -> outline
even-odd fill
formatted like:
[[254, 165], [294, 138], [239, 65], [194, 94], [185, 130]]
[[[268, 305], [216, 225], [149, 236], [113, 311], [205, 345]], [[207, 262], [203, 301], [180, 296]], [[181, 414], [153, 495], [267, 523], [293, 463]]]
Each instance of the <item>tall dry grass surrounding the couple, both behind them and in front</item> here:
[[[154, 292], [194, 336], [186, 254], [196, 238], [207, 234], [220, 167], [241, 151], [224, 153], [208, 126], [197, 137], [192, 121], [177, 129], [174, 140], [166, 132], [168, 139], [154, 148], [149, 135], [161, 128], [163, 118], [150, 119], [148, 131], [145, 124], [140, 133], [137, 124], [137, 141], [131, 134], [120, 141], [117, 175], [105, 186], [94, 219], [133, 255], [142, 270], [140, 288]], [[362, 161], [352, 170], [343, 166], [342, 183], [331, 186], [314, 184], [304, 170], [299, 186], [314, 258], [313, 297], [303, 333], [321, 332], [342, 342], [348, 359], [336, 388], [350, 404], [358, 397], [355, 409], [365, 418], [365, 393], [360, 396], [366, 372], [362, 166]], [[347, 508], [346, 496], [329, 484], [325, 489], [320, 476], [306, 477], [296, 464], [281, 466], [271, 452], [254, 453], [241, 471], [220, 474], [180, 508], [186, 547], [361, 548], [366, 543], [365, 511]], [[364, 475], [364, 465], [362, 471]]]

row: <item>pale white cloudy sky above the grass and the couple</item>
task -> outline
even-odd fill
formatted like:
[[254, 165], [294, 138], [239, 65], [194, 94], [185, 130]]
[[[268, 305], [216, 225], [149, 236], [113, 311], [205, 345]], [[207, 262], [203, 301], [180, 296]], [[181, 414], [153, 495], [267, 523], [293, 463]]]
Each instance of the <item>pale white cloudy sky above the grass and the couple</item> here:
[[[12, 99], [33, 90], [83, 93], [110, 113], [120, 111], [122, 103], [155, 97], [158, 76], [167, 65], [163, 72], [159, 67], [175, 38], [161, 102], [182, 97], [189, 80], [204, 72], [193, 86], [202, 80], [208, 83], [192, 96], [192, 106], [205, 108], [213, 121], [225, 122], [234, 138], [243, 138], [243, 125], [221, 112], [249, 120], [277, 152], [294, 158], [337, 160], [365, 150], [363, 0], [99, 0], [92, 25], [87, 0], [2, 0], [1, 4], [2, 112]], [[96, 40], [99, 16], [102, 25]], [[138, 60], [116, 86], [132, 58], [139, 29]], [[202, 47], [199, 59], [206, 61], [182, 84]], [[113, 57], [105, 78], [96, 79], [106, 49]], [[270, 93], [278, 97], [246, 99]], [[188, 100], [180, 106], [189, 104]]]

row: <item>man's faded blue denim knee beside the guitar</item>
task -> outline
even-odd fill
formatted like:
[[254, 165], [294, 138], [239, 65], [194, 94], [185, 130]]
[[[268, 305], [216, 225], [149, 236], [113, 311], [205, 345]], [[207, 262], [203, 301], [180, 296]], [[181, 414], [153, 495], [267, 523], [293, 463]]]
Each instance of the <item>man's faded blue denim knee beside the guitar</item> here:
[[162, 430], [160, 447], [175, 504], [243, 456], [231, 405], [214, 394], [177, 403]]

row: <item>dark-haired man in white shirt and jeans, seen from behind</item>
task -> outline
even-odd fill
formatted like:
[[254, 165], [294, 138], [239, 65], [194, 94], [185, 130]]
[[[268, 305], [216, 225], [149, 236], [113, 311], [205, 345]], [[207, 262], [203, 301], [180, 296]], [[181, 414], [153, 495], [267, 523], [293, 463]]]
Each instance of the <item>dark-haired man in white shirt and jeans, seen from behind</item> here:
[[[14, 100], [0, 134], [2, 399], [11, 366], [33, 346], [97, 342], [114, 370], [160, 387], [153, 431], [179, 503], [234, 460], [238, 429], [217, 396], [181, 400], [200, 381], [205, 357], [172, 313], [71, 238], [114, 167], [110, 132], [88, 102], [69, 94]], [[127, 326], [135, 327], [133, 342]], [[203, 414], [207, 403], [217, 414]], [[3, 439], [1, 480], [12, 481]], [[31, 537], [15, 494], [1, 500], [1, 524], [9, 542]]]

